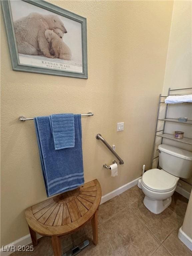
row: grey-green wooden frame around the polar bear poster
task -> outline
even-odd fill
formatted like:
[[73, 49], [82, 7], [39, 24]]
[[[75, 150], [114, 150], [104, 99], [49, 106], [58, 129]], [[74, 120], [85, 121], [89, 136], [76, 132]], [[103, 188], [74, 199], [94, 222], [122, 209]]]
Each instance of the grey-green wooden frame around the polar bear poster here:
[[[81, 17], [81, 16], [79, 16], [75, 13], [72, 13], [70, 11], [67, 11], [63, 8], [60, 8], [56, 5], [50, 4], [46, 1], [42, 1], [42, 0], [21, 0], [21, 1], [29, 3], [34, 6], [37, 6], [39, 8], [43, 8], [49, 12], [52, 12], [53, 15], [60, 15], [60, 16], [63, 16], [64, 18], [68, 18], [73, 23], [74, 23], [74, 21], [78, 22], [78, 26], [81, 28], [81, 32], [80, 32], [81, 42], [80, 43], [82, 45], [81, 46], [82, 47], [82, 58], [81, 58], [82, 67], [81, 67], [81, 65], [79, 65], [79, 67], [80, 67], [80, 69], [82, 69], [81, 70], [82, 72], [81, 71], [77, 72], [77, 71], [73, 71], [73, 70], [72, 71], [71, 70], [70, 71], [69, 70], [58, 70], [55, 68], [52, 69], [50, 67], [46, 68], [46, 67], [39, 67], [36, 65], [28, 65], [28, 64], [21, 63], [20, 59], [19, 59], [20, 55], [18, 53], [13, 17], [12, 17], [12, 12], [11, 12], [11, 2], [8, 0], [4, 0], [4, 1], [1, 1], [1, 7], [2, 7], [2, 11], [3, 11], [3, 16], [4, 16], [4, 22], [5, 22], [6, 32], [7, 32], [7, 38], [8, 38], [8, 44], [9, 44], [9, 50], [10, 50], [13, 70], [87, 79], [88, 74], [87, 74], [87, 24], [86, 24], [86, 18]], [[70, 22], [70, 20], [69, 20], [69, 22]], [[26, 57], [26, 56], [27, 55], [25, 55], [24, 57]], [[34, 56], [36, 56], [36, 55], [34, 55]], [[40, 56], [40, 55], [38, 55], [38, 56]], [[43, 57], [46, 57], [46, 56], [43, 56]], [[52, 59], [52, 60], [54, 62], [56, 59]], [[59, 59], [59, 61], [63, 61], [63, 60]], [[70, 64], [69, 64], [69, 67], [70, 67]], [[73, 65], [72, 65], [71, 69], [73, 69]]]

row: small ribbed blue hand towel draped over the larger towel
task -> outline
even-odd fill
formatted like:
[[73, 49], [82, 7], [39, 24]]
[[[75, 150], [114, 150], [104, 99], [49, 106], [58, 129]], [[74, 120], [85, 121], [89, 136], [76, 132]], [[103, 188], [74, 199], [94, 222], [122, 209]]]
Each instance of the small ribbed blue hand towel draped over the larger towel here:
[[55, 150], [75, 146], [75, 127], [73, 114], [49, 116]]

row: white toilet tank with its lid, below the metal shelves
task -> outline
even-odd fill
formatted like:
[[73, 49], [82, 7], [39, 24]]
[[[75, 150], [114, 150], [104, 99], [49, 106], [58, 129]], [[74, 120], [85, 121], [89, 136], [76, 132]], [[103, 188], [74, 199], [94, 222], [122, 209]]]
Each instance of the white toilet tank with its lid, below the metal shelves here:
[[159, 150], [160, 167], [180, 178], [190, 178], [192, 174], [192, 152], [187, 150], [161, 144]]

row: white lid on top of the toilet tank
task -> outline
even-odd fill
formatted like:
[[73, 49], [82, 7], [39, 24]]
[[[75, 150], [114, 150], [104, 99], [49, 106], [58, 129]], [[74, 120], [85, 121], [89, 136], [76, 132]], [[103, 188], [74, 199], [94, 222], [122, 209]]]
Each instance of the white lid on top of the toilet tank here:
[[192, 152], [190, 152], [190, 151], [187, 151], [187, 150], [184, 150], [184, 149], [181, 149], [181, 148], [176, 148], [176, 147], [173, 147], [173, 146], [169, 146], [169, 145], [166, 145], [166, 144], [159, 145], [158, 149], [160, 151], [163, 151], [163, 152], [165, 152], [167, 154], [170, 154], [172, 156], [176, 156], [176, 157], [179, 157], [179, 158], [183, 158], [183, 159], [187, 159], [187, 160], [192, 161]]

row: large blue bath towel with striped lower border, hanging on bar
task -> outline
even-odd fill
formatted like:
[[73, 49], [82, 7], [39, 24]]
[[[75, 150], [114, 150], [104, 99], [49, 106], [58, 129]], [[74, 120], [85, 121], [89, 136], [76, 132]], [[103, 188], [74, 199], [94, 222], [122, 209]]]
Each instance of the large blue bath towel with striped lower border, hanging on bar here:
[[55, 150], [49, 116], [34, 118], [47, 196], [84, 184], [81, 115], [74, 115], [75, 146]]

